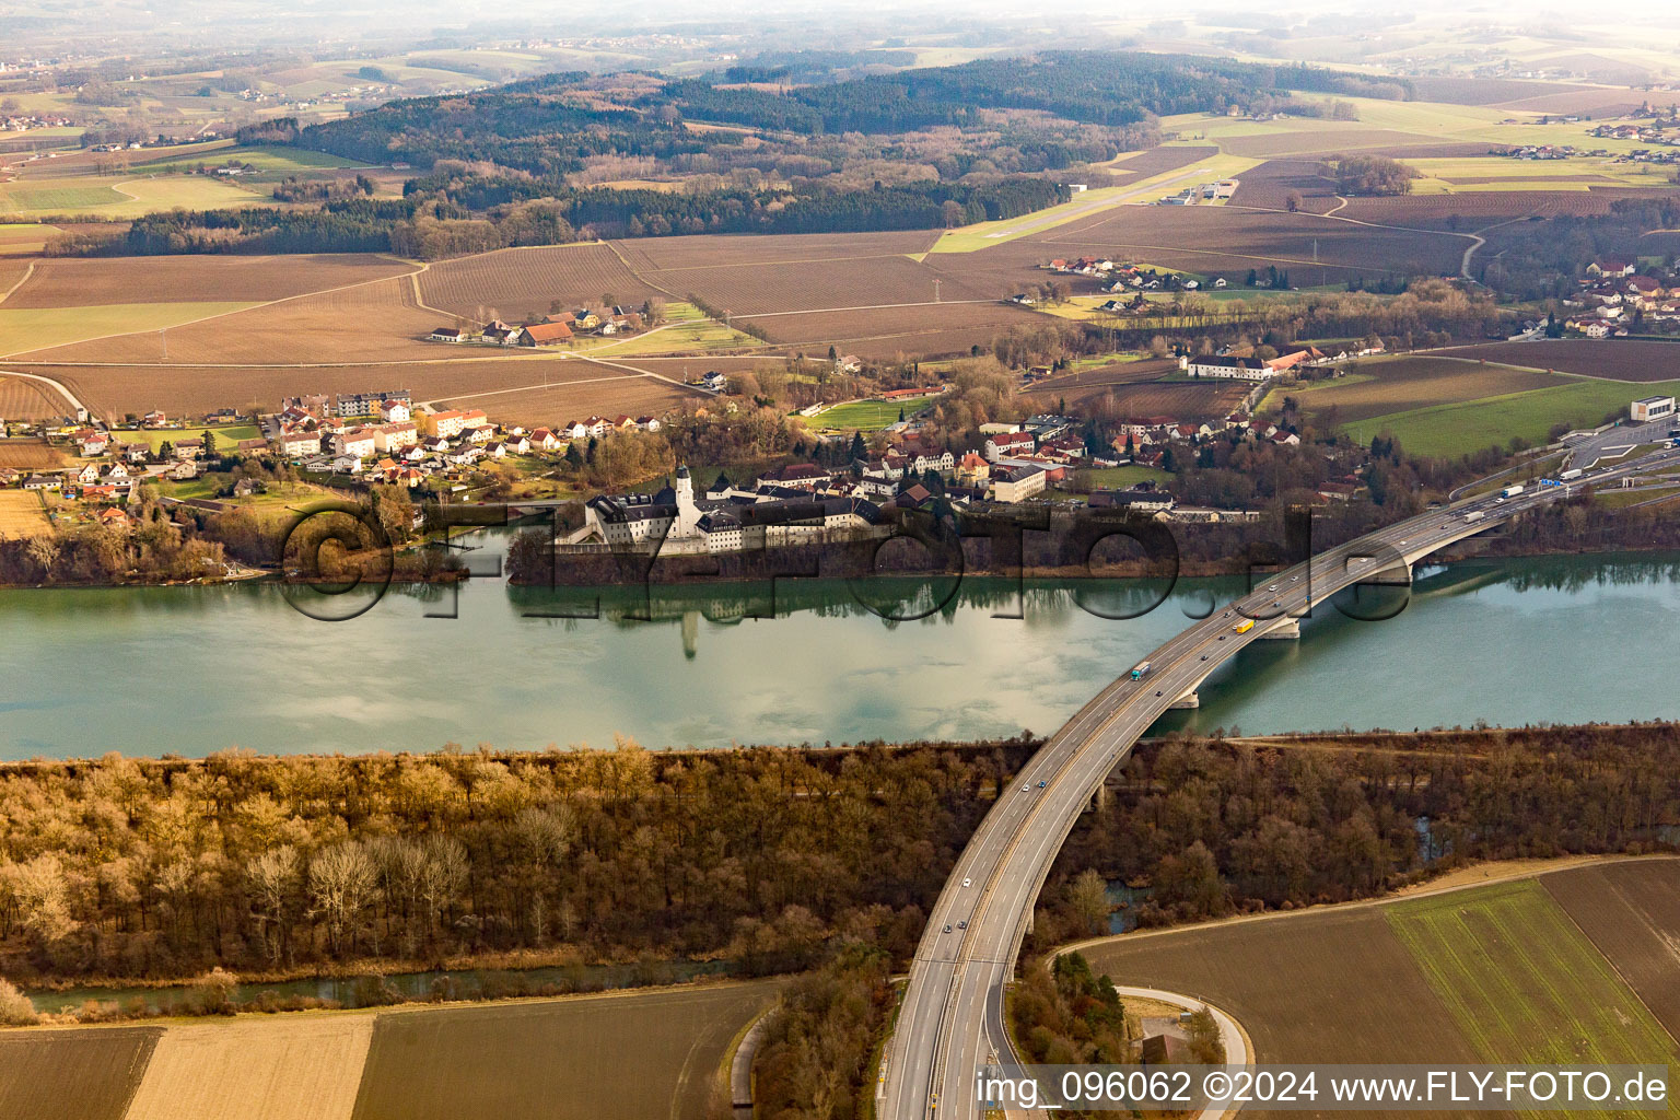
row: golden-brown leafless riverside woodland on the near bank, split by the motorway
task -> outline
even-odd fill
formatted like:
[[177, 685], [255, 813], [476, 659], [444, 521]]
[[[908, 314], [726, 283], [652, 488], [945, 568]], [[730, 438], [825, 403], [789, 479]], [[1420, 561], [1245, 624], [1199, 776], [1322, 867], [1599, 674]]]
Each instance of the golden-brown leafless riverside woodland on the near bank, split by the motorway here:
[[[902, 962], [1035, 746], [7, 764], [0, 976], [514, 959], [764, 974], [848, 944]], [[1672, 846], [1680, 725], [1171, 737], [1109, 794], [1057, 860], [1035, 950], [1105, 925], [1085, 871], [1147, 885], [1136, 917], [1166, 924], [1368, 897], [1465, 860]]]

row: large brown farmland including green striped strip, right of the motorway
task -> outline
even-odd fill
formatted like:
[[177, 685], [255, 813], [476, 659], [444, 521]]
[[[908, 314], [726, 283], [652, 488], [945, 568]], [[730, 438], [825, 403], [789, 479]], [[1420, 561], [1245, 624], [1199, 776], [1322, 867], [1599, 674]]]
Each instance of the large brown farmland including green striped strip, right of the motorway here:
[[1621, 863], [1588, 865], [1381, 903], [1129, 934], [1084, 952], [1116, 982], [1194, 992], [1223, 1007], [1262, 1063], [1675, 1061], [1673, 1036], [1641, 997], [1665, 999], [1672, 989], [1663, 939], [1680, 927], [1641, 937], [1633, 924], [1601, 925], [1628, 929], [1625, 957], [1655, 979], [1645, 987], [1636, 969], [1606, 960], [1571, 920], [1593, 907], [1614, 913], [1618, 897], [1630, 895], [1636, 910], [1673, 919], [1680, 863], [1651, 866], [1658, 863], [1663, 870], [1635, 880]]

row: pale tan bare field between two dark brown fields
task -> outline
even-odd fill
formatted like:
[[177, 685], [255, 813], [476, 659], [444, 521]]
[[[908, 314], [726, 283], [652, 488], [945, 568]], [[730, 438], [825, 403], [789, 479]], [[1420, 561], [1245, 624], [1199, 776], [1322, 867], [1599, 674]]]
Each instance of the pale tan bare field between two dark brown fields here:
[[346, 1120], [371, 1014], [284, 1014], [171, 1026], [124, 1120]]

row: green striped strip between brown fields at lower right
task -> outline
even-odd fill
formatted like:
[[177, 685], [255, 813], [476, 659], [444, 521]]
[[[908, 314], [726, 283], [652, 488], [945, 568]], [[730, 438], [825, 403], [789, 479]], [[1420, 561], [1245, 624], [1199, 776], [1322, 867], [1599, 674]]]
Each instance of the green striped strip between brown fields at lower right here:
[[1483, 1061], [1680, 1061], [1662, 1024], [1534, 880], [1383, 913]]

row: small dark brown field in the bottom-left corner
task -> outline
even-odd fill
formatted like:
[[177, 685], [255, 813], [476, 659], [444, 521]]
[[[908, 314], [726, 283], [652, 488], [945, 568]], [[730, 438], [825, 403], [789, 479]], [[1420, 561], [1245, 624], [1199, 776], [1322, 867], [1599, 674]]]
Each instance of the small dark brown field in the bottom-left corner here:
[[0, 1120], [123, 1120], [163, 1031], [0, 1031]]

